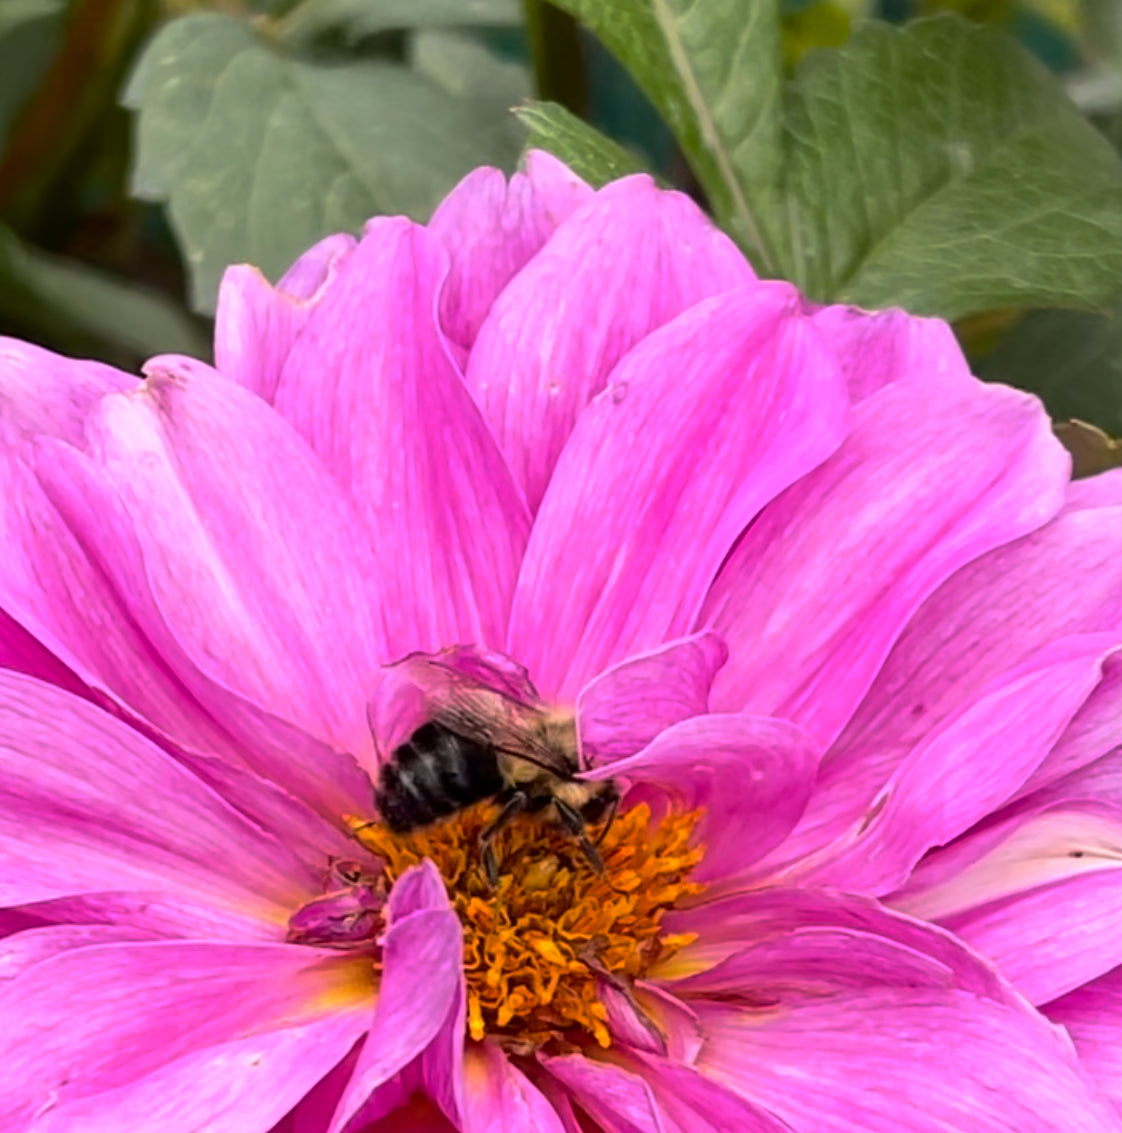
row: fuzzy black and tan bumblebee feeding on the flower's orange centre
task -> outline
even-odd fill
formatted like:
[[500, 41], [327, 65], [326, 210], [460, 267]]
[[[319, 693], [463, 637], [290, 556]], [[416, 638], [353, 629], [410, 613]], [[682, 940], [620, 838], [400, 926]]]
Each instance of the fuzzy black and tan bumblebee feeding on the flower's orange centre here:
[[[457, 679], [431, 718], [382, 764], [374, 801], [398, 834], [431, 826], [477, 802], [501, 808], [479, 835], [483, 866], [499, 884], [495, 835], [517, 815], [539, 813], [576, 838], [593, 869], [596, 849], [619, 807], [613, 780], [585, 782], [576, 719], [569, 713], [522, 704], [467, 679]], [[588, 828], [603, 821], [594, 844]]]

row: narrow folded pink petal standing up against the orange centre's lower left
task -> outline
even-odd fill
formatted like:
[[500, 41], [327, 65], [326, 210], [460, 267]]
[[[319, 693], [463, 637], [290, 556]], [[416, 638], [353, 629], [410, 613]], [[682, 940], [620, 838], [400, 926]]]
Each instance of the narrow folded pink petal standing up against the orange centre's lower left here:
[[[355, 1073], [331, 1121], [330, 1133], [347, 1128], [377, 1089], [420, 1057], [442, 1032], [454, 1032], [462, 1049], [464, 973], [459, 919], [431, 862], [406, 874], [396, 886], [399, 887], [406, 892], [397, 903], [391, 898], [390, 929], [382, 942], [383, 976], [374, 1019]], [[401, 909], [413, 911], [402, 913]], [[459, 1072], [458, 1066], [442, 1068], [449, 1072], [445, 1082], [452, 1079], [453, 1071]]]

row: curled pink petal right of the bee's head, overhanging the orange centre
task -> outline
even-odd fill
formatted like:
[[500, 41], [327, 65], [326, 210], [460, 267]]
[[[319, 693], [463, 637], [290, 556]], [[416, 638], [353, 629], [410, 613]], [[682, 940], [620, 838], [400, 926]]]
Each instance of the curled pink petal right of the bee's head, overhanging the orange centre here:
[[590, 773], [664, 791], [682, 810], [704, 808], [699, 880], [734, 876], [779, 845], [810, 794], [819, 749], [781, 719], [695, 716], [638, 755]]

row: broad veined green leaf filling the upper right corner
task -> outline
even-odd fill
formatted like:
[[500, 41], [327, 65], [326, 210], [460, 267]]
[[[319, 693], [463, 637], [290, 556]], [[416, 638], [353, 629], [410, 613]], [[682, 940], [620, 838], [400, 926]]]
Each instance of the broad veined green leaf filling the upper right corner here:
[[787, 103], [788, 274], [809, 295], [955, 318], [1122, 288], [1122, 167], [1011, 40], [866, 25]]

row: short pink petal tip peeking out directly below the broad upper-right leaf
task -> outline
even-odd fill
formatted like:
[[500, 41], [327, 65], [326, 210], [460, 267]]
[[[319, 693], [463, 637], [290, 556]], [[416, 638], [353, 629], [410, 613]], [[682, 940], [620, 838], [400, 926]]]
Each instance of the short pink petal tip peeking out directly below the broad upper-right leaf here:
[[941, 318], [917, 318], [895, 308], [836, 306], [824, 307], [814, 321], [833, 346], [855, 402], [910, 380], [923, 384], [928, 404], [935, 407], [955, 384], [974, 384], [954, 332]]

